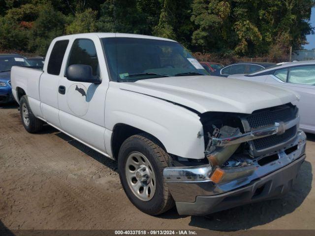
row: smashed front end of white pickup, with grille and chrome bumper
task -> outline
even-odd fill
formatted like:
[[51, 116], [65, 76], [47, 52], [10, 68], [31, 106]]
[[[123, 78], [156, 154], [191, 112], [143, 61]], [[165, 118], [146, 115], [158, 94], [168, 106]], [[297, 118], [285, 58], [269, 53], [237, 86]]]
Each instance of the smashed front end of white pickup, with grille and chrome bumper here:
[[[208, 214], [274, 198], [290, 189], [305, 158], [306, 144], [295, 106], [285, 104], [251, 115], [211, 113], [201, 115], [200, 120], [208, 164], [188, 163], [163, 172], [180, 214]], [[280, 181], [281, 175], [286, 176]], [[236, 189], [246, 186], [252, 187], [232, 197]], [[211, 204], [199, 206], [200, 198], [210, 199]]]

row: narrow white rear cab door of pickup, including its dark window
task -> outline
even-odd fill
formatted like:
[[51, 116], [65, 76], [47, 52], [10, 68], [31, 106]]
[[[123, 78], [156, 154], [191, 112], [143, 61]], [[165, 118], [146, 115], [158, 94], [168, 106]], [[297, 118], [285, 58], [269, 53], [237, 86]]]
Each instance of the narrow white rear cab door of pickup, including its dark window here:
[[60, 127], [58, 118], [58, 84], [63, 72], [61, 67], [69, 40], [53, 40], [47, 53], [48, 63], [44, 65], [44, 72], [40, 77], [39, 95], [40, 109], [44, 119]]

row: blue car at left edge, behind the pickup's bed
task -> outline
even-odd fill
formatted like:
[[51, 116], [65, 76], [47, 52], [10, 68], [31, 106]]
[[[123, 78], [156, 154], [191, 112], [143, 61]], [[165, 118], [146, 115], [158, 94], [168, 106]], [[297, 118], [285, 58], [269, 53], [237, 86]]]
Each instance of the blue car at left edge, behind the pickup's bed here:
[[11, 67], [30, 66], [24, 57], [18, 54], [0, 54], [0, 103], [14, 101], [11, 90]]

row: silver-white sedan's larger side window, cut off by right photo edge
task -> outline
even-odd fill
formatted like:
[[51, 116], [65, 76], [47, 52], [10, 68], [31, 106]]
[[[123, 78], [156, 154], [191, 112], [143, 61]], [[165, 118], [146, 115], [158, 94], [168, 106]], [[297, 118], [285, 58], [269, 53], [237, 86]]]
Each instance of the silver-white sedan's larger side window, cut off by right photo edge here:
[[290, 68], [287, 82], [301, 85], [315, 85], [315, 65]]

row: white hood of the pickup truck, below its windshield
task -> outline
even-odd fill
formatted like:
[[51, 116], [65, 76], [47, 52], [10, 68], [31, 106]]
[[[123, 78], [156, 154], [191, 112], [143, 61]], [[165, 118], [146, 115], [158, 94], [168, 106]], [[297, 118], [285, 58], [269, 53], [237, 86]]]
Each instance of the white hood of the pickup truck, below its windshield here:
[[120, 89], [177, 103], [199, 113], [253, 111], [298, 99], [291, 91], [217, 76], [165, 77], [120, 83]]

